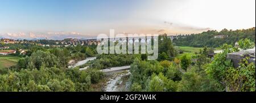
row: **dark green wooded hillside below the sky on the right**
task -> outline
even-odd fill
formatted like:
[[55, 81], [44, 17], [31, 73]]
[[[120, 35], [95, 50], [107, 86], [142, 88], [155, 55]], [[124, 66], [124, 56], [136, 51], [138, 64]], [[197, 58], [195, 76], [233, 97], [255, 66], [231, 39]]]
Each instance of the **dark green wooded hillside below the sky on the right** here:
[[[223, 36], [216, 37], [214, 36]], [[223, 44], [233, 45], [243, 38], [249, 38], [255, 42], [255, 27], [249, 29], [237, 29], [236, 31], [223, 29], [222, 31], [207, 31], [199, 34], [186, 36], [178, 36], [173, 42], [177, 46], [193, 46], [193, 47], [220, 47]]]

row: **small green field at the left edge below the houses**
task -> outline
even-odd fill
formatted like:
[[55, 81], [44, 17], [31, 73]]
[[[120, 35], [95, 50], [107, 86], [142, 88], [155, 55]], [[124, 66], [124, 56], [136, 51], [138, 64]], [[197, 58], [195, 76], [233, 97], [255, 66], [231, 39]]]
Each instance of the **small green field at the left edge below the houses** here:
[[0, 68], [8, 68], [14, 66], [19, 61], [19, 59], [19, 57], [11, 55], [0, 55]]

